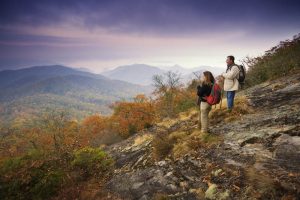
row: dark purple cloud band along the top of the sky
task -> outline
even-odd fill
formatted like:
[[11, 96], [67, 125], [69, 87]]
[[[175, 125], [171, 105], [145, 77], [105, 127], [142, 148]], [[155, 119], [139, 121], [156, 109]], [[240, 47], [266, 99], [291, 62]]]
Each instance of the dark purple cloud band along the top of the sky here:
[[297, 0], [1, 1], [0, 23], [51, 25], [72, 18], [87, 28], [184, 34], [242, 27], [299, 26]]

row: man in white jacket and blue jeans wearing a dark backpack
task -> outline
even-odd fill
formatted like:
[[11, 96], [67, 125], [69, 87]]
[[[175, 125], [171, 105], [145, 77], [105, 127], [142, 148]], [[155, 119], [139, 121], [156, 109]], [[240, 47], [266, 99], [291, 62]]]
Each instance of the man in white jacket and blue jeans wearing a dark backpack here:
[[232, 110], [234, 104], [235, 91], [239, 89], [239, 67], [234, 63], [234, 57], [228, 56], [226, 59], [227, 70], [222, 74], [224, 77], [224, 91], [227, 93], [227, 109]]

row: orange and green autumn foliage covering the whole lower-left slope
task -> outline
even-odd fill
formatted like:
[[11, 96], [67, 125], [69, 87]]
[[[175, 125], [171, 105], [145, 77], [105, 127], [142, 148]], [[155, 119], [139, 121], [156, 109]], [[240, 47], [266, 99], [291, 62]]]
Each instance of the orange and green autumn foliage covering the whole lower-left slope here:
[[[192, 93], [176, 91], [172, 103], [185, 109]], [[153, 126], [164, 100], [137, 95], [114, 103], [111, 116], [90, 115], [78, 122], [60, 110], [41, 113], [23, 125], [1, 126], [0, 199], [49, 199], [68, 190], [80, 194], [78, 183], [106, 179], [114, 161], [102, 145]]]

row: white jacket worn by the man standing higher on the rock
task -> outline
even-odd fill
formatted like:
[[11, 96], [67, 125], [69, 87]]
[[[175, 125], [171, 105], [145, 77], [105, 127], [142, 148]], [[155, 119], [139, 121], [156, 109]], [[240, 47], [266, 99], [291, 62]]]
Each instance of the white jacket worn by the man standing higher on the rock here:
[[239, 68], [233, 65], [231, 69], [222, 74], [224, 80], [224, 91], [236, 91], [239, 89], [239, 81], [237, 80], [239, 75]]

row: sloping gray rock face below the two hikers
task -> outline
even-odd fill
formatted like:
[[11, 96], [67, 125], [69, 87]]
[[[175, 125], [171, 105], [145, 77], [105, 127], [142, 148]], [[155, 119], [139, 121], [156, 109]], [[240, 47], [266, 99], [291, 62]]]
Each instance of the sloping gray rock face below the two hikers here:
[[[151, 139], [137, 137], [195, 126], [195, 119], [168, 130], [153, 127], [107, 147], [116, 160], [106, 188], [121, 199], [281, 199], [300, 196], [300, 74], [246, 91], [255, 113], [221, 122], [211, 132], [224, 142], [177, 159], [155, 162]], [[210, 186], [210, 187], [209, 187]], [[256, 195], [256, 196], [253, 196]], [[290, 196], [289, 196], [290, 195]]]

